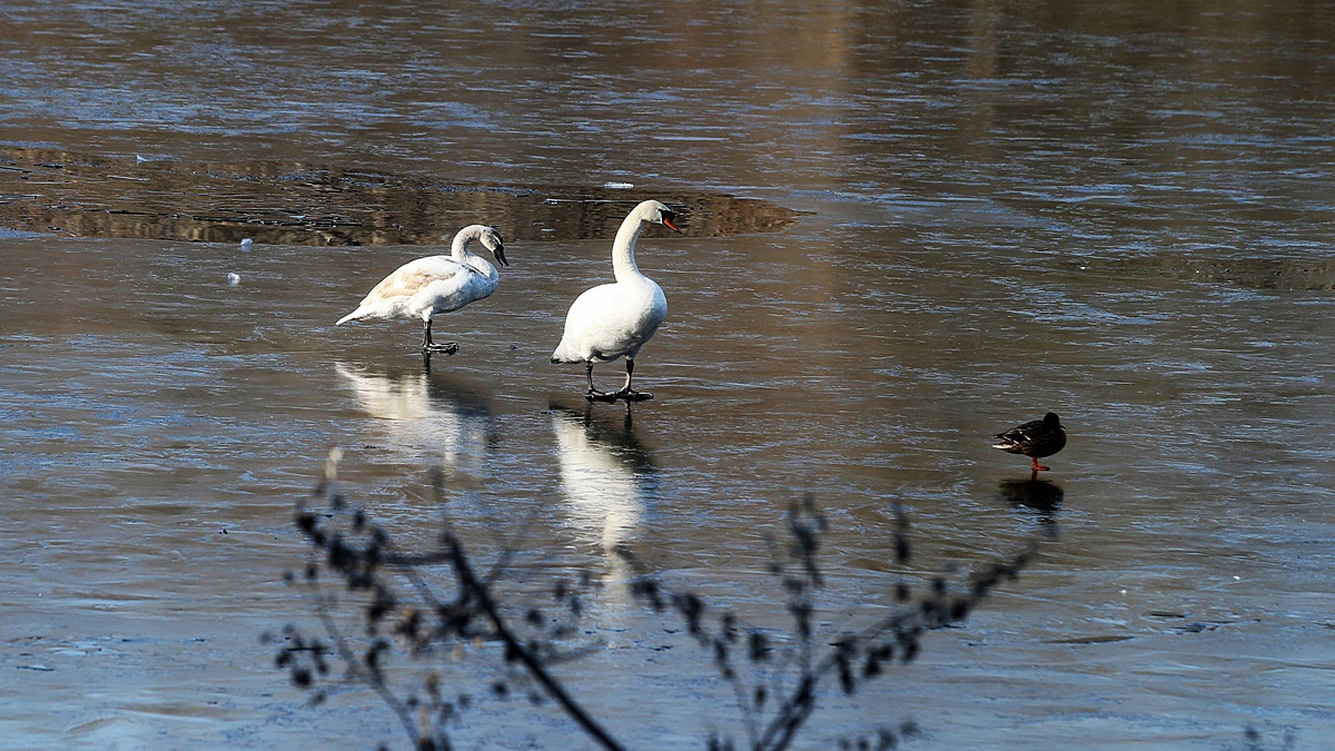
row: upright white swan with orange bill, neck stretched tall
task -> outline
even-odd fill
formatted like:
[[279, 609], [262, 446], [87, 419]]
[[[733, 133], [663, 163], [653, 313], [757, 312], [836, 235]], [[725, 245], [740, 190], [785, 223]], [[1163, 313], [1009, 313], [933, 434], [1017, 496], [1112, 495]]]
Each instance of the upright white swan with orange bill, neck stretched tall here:
[[[676, 214], [672, 208], [657, 200], [646, 200], [626, 215], [611, 246], [611, 270], [617, 283], [585, 290], [566, 314], [565, 335], [551, 353], [551, 362], [583, 362], [585, 376], [589, 378], [589, 400], [653, 398], [653, 394], [631, 389], [631, 378], [635, 354], [668, 317], [668, 298], [635, 266], [635, 241], [649, 223], [659, 223], [681, 233], [673, 219]], [[593, 363], [611, 362], [622, 355], [626, 358], [626, 385], [610, 394], [594, 389]]]

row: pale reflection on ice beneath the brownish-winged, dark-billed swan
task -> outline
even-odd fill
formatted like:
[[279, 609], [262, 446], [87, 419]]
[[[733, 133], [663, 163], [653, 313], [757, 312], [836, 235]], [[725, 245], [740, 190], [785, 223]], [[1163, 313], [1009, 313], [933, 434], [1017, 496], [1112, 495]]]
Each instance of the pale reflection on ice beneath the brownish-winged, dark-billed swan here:
[[376, 429], [395, 452], [478, 474], [495, 444], [490, 400], [447, 374], [423, 369], [334, 365], [358, 405], [383, 422]]

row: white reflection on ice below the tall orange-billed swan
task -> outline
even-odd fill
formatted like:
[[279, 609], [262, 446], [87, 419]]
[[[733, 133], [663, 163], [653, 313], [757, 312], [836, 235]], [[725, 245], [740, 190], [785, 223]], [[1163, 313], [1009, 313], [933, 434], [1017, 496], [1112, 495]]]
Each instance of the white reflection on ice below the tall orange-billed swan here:
[[642, 524], [657, 485], [657, 468], [635, 437], [631, 412], [594, 417], [591, 405], [550, 405], [551, 429], [561, 461], [561, 490], [569, 514], [597, 536], [607, 561], [607, 579], [629, 575], [615, 551], [630, 543]]

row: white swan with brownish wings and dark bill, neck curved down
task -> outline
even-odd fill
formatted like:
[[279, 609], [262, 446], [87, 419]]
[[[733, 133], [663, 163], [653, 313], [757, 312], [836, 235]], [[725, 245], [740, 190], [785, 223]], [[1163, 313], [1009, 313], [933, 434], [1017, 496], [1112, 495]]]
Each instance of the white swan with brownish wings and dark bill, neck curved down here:
[[469, 250], [473, 241], [485, 245], [502, 266], [510, 265], [501, 234], [486, 224], [470, 224], [454, 235], [450, 255], [429, 255], [399, 266], [334, 325], [362, 318], [421, 318], [422, 350], [454, 354], [459, 345], [431, 341], [431, 317], [490, 297], [501, 281], [495, 266]]

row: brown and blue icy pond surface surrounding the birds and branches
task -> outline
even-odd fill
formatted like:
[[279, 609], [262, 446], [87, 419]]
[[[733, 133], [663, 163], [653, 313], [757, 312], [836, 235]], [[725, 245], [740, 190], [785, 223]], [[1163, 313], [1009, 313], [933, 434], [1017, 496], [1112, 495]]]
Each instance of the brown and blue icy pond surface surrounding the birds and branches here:
[[[260, 644], [315, 625], [282, 573], [335, 446], [406, 540], [443, 466], [525, 577], [625, 544], [769, 625], [812, 492], [828, 633], [892, 603], [894, 502], [916, 575], [1043, 540], [804, 748], [1330, 747], [1331, 49], [1328, 3], [4, 3], [0, 747], [405, 747]], [[646, 196], [688, 231], [641, 242], [627, 416], [546, 358]], [[474, 222], [513, 266], [459, 354], [331, 325]], [[1047, 410], [1035, 485], [988, 437]], [[627, 744], [738, 731], [674, 621], [609, 587], [583, 627]], [[525, 702], [455, 742], [587, 746]]]

